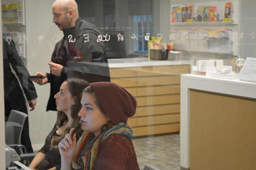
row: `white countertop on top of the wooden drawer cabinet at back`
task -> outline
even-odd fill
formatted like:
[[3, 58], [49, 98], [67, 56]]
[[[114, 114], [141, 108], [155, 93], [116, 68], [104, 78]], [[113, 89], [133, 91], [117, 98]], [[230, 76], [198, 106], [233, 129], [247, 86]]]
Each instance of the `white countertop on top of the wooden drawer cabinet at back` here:
[[149, 58], [115, 58], [108, 59], [109, 68], [123, 67], [144, 67], [144, 66], [169, 66], [169, 65], [191, 65], [194, 66], [194, 61], [172, 61], [172, 60], [151, 60]]

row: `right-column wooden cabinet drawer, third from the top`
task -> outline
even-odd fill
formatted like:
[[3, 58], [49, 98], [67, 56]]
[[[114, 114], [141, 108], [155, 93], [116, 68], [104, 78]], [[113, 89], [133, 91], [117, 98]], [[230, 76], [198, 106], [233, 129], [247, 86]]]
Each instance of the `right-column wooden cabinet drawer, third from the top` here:
[[180, 85], [138, 87], [137, 96], [180, 94]]

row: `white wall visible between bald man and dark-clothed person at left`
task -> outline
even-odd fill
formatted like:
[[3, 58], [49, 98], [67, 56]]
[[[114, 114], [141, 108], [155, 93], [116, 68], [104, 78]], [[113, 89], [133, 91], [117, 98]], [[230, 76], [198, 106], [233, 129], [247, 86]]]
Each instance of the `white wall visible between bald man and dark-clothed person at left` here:
[[[52, 38], [58, 35], [63, 37], [63, 32], [52, 22], [52, 4], [55, 0], [26, 0], [26, 33], [27, 41], [27, 68], [31, 75], [35, 72], [49, 73], [48, 62], [51, 61], [55, 43]], [[38, 36], [44, 39], [39, 43]], [[55, 37], [56, 39], [56, 37]], [[54, 127], [56, 113], [46, 112], [46, 105], [50, 96], [50, 84], [39, 86], [34, 83], [38, 95], [36, 109], [29, 111], [29, 135], [32, 147], [41, 149], [45, 138]]]

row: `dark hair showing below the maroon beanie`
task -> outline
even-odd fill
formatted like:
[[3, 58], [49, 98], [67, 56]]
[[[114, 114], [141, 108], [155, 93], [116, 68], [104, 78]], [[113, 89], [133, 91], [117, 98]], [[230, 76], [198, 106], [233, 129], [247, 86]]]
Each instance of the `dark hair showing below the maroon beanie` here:
[[[98, 106], [98, 108], [100, 109], [100, 112], [103, 113], [104, 116], [108, 117], [108, 115], [106, 114], [106, 112], [104, 111], [103, 107], [100, 104], [100, 100], [98, 98], [98, 96], [96, 95], [94, 89], [92, 89], [91, 86], [88, 86], [84, 89], [83, 91], [84, 93], [88, 93], [90, 95], [92, 95], [95, 98], [95, 104]], [[106, 124], [104, 124], [101, 129], [100, 129], [100, 133], [105, 132], [106, 130], [112, 128], [113, 123], [111, 122], [111, 120], [108, 120]]]

